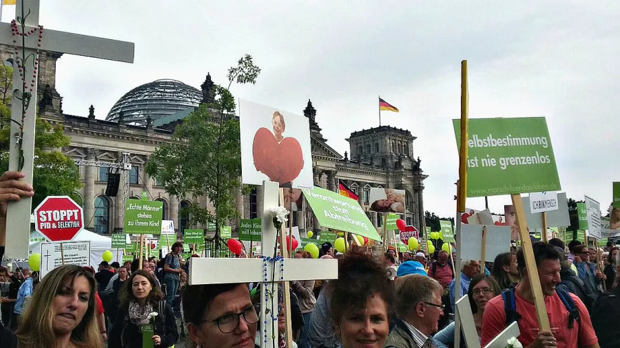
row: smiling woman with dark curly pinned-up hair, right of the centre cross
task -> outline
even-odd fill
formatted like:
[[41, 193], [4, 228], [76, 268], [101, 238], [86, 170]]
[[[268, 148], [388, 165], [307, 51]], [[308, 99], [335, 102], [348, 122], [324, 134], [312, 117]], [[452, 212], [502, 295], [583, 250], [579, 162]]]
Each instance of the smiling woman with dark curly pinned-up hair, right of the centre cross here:
[[329, 283], [331, 318], [341, 347], [382, 348], [393, 317], [394, 282], [382, 263], [362, 248], [351, 248]]

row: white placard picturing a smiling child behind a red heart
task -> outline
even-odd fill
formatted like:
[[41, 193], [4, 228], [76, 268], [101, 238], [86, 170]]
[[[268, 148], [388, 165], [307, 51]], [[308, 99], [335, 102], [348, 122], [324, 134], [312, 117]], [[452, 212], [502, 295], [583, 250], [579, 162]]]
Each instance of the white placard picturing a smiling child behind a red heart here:
[[307, 118], [247, 100], [240, 100], [239, 118], [243, 184], [313, 187]]

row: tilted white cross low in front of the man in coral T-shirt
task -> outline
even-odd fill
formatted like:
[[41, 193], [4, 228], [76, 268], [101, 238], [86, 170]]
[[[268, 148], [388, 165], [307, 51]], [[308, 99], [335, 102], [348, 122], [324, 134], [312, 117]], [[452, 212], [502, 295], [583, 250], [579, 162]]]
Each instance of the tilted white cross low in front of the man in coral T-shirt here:
[[[480, 348], [480, 339], [478, 338], [478, 332], [476, 331], [476, 325], [473, 320], [473, 314], [471, 314], [471, 306], [469, 305], [469, 298], [467, 295], [459, 298], [459, 301], [455, 303], [456, 316], [455, 325], [461, 323], [463, 327], [463, 336], [465, 337], [465, 343], [467, 348]], [[517, 322], [513, 322], [499, 335], [495, 336], [493, 340], [488, 342], [484, 348], [505, 348], [506, 341], [509, 338], [519, 337], [519, 325]]]

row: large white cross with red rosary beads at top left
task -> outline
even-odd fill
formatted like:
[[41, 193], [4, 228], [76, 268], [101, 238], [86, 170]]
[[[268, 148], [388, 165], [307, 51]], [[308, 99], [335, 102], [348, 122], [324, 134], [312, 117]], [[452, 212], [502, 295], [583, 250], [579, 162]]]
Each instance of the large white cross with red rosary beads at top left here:
[[[32, 184], [34, 167], [34, 124], [37, 109], [37, 67], [39, 50], [76, 54], [133, 63], [134, 44], [94, 36], [43, 30], [39, 26], [39, 0], [17, 0], [14, 23], [0, 23], [0, 43], [15, 47], [12, 93], [9, 171], [21, 171]], [[38, 32], [38, 33], [37, 33]], [[32, 83], [30, 80], [32, 79]], [[6, 257], [28, 256], [32, 197], [11, 202], [7, 208]]]

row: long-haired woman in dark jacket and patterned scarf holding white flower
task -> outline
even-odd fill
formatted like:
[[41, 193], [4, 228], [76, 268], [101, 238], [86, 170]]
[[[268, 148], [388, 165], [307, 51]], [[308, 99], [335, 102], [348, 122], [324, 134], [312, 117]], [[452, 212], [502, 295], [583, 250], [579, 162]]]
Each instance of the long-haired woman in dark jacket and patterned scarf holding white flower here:
[[154, 347], [171, 347], [178, 341], [172, 307], [163, 300], [151, 273], [136, 270], [123, 284], [120, 296], [109, 347], [142, 348], [143, 340], [152, 340]]

